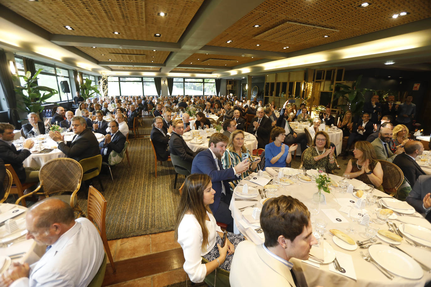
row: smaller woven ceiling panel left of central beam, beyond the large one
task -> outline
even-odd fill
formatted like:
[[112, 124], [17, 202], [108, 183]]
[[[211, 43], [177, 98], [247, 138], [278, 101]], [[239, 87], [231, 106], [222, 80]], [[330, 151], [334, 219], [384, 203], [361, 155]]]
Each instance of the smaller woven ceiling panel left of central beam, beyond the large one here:
[[[137, 49], [112, 49], [112, 48], [91, 48], [91, 47], [77, 47], [82, 52], [90, 55], [100, 62], [137, 62], [137, 63], [154, 63], [162, 64], [169, 56], [167, 51], [153, 50], [137, 50]], [[105, 56], [102, 56], [104, 54]], [[154, 57], [154, 58], [153, 58]]]

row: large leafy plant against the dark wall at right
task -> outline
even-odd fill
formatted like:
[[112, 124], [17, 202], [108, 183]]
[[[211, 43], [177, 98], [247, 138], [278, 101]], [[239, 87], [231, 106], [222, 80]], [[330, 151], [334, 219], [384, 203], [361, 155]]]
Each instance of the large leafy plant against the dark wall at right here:
[[[353, 115], [362, 114], [362, 110], [365, 103], [364, 94], [368, 91], [374, 92], [373, 89], [359, 89], [359, 85], [361, 84], [362, 75], [360, 75], [356, 81], [353, 82], [352, 86], [347, 86], [344, 84], [337, 83], [335, 84], [336, 91], [334, 92], [334, 102], [338, 102], [338, 99], [341, 97], [347, 101], [345, 104], [337, 105], [343, 109], [344, 113], [348, 110], [352, 111]], [[343, 101], [343, 102], [346, 102]]]

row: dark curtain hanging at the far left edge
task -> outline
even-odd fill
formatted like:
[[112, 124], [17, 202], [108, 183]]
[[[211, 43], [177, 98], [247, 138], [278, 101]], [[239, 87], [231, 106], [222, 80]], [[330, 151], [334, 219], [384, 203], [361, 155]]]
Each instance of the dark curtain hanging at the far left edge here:
[[9, 123], [12, 123], [16, 129], [20, 129], [21, 124], [18, 122], [19, 114], [16, 109], [16, 95], [13, 90], [12, 75], [9, 70], [6, 52], [3, 50], [0, 51], [0, 83], [7, 102]]

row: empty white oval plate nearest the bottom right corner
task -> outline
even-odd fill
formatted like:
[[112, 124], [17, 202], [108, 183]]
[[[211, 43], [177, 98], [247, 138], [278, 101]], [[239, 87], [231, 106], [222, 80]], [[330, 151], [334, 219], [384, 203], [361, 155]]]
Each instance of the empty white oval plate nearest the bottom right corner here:
[[370, 246], [368, 252], [379, 265], [395, 275], [412, 280], [418, 280], [424, 275], [418, 262], [400, 250], [377, 244]]

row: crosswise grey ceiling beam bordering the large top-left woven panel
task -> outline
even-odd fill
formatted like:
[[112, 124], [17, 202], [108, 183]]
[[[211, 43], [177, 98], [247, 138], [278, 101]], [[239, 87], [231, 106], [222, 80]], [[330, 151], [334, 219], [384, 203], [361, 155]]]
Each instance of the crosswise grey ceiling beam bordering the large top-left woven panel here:
[[179, 51], [179, 43], [99, 38], [74, 35], [52, 34], [50, 41], [60, 46], [116, 48], [116, 49], [139, 49], [159, 51]]

